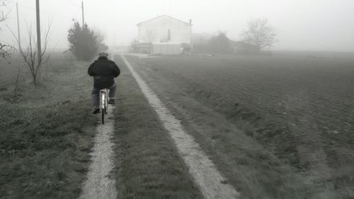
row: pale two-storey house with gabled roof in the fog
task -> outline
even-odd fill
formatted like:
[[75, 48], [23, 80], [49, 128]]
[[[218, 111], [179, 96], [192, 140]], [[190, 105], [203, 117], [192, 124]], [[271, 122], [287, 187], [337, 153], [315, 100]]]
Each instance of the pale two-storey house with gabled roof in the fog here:
[[139, 52], [152, 55], [176, 55], [190, 51], [192, 22], [163, 15], [138, 23]]

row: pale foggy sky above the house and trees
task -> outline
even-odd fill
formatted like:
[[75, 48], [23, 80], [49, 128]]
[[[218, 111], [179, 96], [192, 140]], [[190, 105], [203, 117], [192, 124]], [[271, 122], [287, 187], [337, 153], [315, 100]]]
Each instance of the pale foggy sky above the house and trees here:
[[[1, 23], [0, 40], [14, 43], [6, 24], [17, 33], [16, 1]], [[18, 0], [21, 32], [35, 28], [35, 0]], [[41, 0], [41, 23], [52, 20], [50, 47], [67, 48], [72, 18], [81, 23], [81, 1]], [[274, 50], [354, 52], [354, 1], [352, 0], [84, 0], [85, 23], [100, 29], [108, 45], [128, 45], [137, 38], [137, 23], [167, 14], [188, 22], [193, 33], [223, 31], [239, 40], [251, 18], [268, 18], [279, 32]], [[35, 30], [35, 29], [34, 29]]]

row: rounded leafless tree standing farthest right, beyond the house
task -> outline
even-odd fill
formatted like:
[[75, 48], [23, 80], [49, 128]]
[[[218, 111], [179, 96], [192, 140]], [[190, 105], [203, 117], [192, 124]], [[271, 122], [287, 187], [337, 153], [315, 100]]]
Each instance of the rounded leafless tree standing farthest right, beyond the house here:
[[267, 18], [255, 18], [249, 21], [247, 29], [242, 33], [242, 40], [261, 50], [277, 42], [276, 35], [277, 31], [268, 24]]

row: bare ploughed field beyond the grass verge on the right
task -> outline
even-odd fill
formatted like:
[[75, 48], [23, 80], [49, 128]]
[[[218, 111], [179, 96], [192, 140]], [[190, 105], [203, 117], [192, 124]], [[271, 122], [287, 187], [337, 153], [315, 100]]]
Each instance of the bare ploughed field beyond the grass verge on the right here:
[[[179, 107], [177, 113], [188, 112], [186, 99], [193, 98], [201, 110], [223, 115], [282, 164], [292, 166], [307, 183], [309, 198], [353, 197], [346, 184], [354, 186], [353, 181], [340, 180], [346, 174], [354, 177], [353, 62], [280, 55], [130, 59], [159, 97]], [[225, 140], [227, 133], [213, 136], [224, 140], [230, 158], [236, 153], [232, 139]]]

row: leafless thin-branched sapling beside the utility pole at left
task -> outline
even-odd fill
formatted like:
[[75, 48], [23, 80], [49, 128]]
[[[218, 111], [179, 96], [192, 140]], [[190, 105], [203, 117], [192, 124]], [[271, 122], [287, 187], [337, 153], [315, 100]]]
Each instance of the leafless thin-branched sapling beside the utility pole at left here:
[[[44, 40], [44, 43], [42, 46], [42, 52], [41, 52], [40, 56], [38, 56], [37, 40], [36, 40], [36, 37], [33, 35], [31, 26], [30, 26], [30, 28], [27, 28], [27, 30], [28, 30], [28, 45], [25, 47], [21, 47], [19, 49], [20, 55], [23, 58], [25, 65], [30, 70], [30, 74], [32, 75], [32, 79], [33, 79], [33, 84], [35, 86], [38, 85], [37, 77], [38, 77], [38, 72], [40, 70], [40, 67], [47, 64], [47, 62], [50, 59], [50, 55], [47, 55], [47, 45], [49, 42], [49, 33], [50, 33], [51, 26], [52, 26], [52, 23], [48, 23], [48, 26], [47, 26], [48, 28], [47, 28], [47, 30], [44, 31], [45, 40]], [[16, 41], [19, 43], [20, 41], [18, 40], [18, 38], [16, 37], [16, 35], [13, 33], [12, 30], [11, 30], [11, 33], [12, 33], [13, 37], [16, 38]]]

